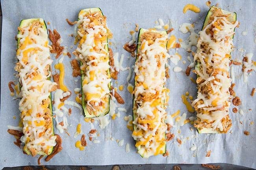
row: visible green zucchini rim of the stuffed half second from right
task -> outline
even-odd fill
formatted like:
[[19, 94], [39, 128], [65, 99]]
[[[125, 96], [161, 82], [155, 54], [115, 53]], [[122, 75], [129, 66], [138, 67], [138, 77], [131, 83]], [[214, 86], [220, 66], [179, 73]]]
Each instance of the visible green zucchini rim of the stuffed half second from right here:
[[[139, 38], [140, 38], [141, 32], [143, 32], [143, 31], [146, 32], [146, 31], [148, 31], [148, 30], [143, 29], [143, 28], [140, 28], [140, 29], [139, 29], [139, 33], [138, 33], [138, 37], [137, 37], [137, 48], [136, 48], [135, 63], [136, 63], [136, 61], [137, 61], [137, 59], [138, 59], [138, 49], [139, 49], [138, 43], [140, 42], [140, 41], [139, 41]], [[168, 34], [167, 31], [158, 31], [158, 32], [161, 32], [161, 33], [165, 32], [166, 34]], [[135, 76], [134, 76], [134, 78], [135, 78]], [[134, 79], [134, 90], [135, 90], [135, 85], [136, 85], [136, 81], [135, 81], [135, 79]], [[133, 100], [133, 102], [132, 102], [132, 120], [134, 121], [134, 120], [135, 120], [135, 117], [136, 117], [136, 115], [135, 115], [135, 110], [134, 110], [134, 106], [135, 106], [135, 95], [134, 95], [134, 94], [133, 94], [133, 96], [132, 96], [132, 100]], [[135, 126], [136, 126], [136, 125], [134, 124], [134, 125], [133, 125], [134, 129], [135, 129]], [[166, 134], [165, 134], [165, 138], [166, 138]], [[166, 153], [166, 147], [167, 147], [167, 143], [165, 142], [165, 151], [164, 151], [163, 155]], [[136, 148], [137, 151], [139, 150], [139, 148], [140, 148], [140, 146]], [[141, 157], [144, 157], [143, 154], [139, 154], [139, 155], [140, 155]]]

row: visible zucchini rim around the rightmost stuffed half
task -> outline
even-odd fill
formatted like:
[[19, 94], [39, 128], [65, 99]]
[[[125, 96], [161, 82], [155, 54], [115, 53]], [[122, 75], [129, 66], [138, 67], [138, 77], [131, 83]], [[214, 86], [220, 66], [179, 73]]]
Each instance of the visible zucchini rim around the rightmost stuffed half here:
[[[201, 30], [203, 30], [204, 29], [204, 27], [206, 27], [207, 25], [208, 25], [208, 20], [209, 20], [209, 17], [210, 17], [210, 15], [211, 15], [211, 9], [212, 8], [217, 8], [217, 7], [215, 7], [215, 6], [211, 6], [210, 7], [210, 9], [208, 10], [208, 12], [207, 12], [207, 14], [206, 14], [206, 16], [205, 16], [205, 18], [204, 18], [204, 24], [203, 24], [203, 26], [202, 26], [202, 29]], [[221, 11], [224, 11], [223, 9], [221, 9]], [[228, 13], [232, 13], [232, 12], [229, 12], [229, 11], [225, 11], [225, 12], [228, 12]], [[233, 15], [234, 15], [234, 20], [236, 21], [237, 20], [237, 14], [236, 14], [236, 12], [233, 12]], [[236, 28], [235, 28], [236, 29]], [[234, 29], [234, 31], [235, 31], [235, 29]], [[234, 38], [234, 35], [233, 35], [233, 37], [232, 37], [232, 39]], [[231, 54], [231, 53], [230, 53]], [[195, 69], [199, 69], [199, 67], [200, 67], [200, 63], [199, 62], [197, 62], [196, 63], [196, 66], [195, 66]], [[197, 78], [198, 78], [199, 76], [197, 75]], [[211, 128], [197, 128], [197, 132], [198, 133], [219, 133], [217, 130], [211, 130]]]

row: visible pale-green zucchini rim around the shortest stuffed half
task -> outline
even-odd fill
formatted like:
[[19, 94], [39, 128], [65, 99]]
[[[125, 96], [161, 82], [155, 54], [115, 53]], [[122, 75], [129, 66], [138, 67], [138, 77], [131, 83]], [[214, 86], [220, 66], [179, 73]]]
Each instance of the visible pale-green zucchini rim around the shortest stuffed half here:
[[[101, 13], [102, 13], [102, 15], [103, 15], [103, 12], [102, 12], [102, 10], [98, 7], [98, 8], [87, 8], [87, 9], [82, 9], [82, 10], [95, 10], [95, 11], [100, 11]], [[80, 10], [79, 11], [79, 13], [82, 11], [82, 10]], [[104, 15], [103, 15], [104, 16]], [[79, 18], [78, 18], [78, 20], [79, 20]], [[108, 50], [108, 52], [109, 52], [109, 49], [108, 49], [108, 38], [107, 38], [107, 44], [106, 44], [106, 47], [105, 47], [105, 49], [107, 49]], [[82, 66], [83, 65], [83, 63], [80, 61], [80, 66]], [[108, 70], [108, 75], [110, 76], [110, 69]], [[91, 115], [91, 114], [89, 114], [89, 112], [88, 112], [88, 110], [87, 110], [87, 107], [86, 107], [86, 105], [87, 105], [87, 103], [86, 103], [86, 101], [84, 100], [85, 99], [85, 95], [84, 95], [84, 93], [83, 93], [83, 79], [84, 79], [84, 73], [83, 73], [83, 71], [81, 70], [81, 91], [82, 91], [82, 108], [83, 108], [83, 115], [84, 115], [84, 117], [87, 117], [87, 118], [93, 118], [93, 117], [96, 117], [95, 115]], [[109, 86], [109, 91], [111, 91], [111, 82], [108, 84], [108, 86]], [[109, 94], [109, 97], [108, 97], [108, 109], [106, 110], [106, 112], [103, 114], [103, 115], [106, 115], [106, 114], [108, 114], [109, 113], [109, 110], [110, 110], [110, 94]], [[100, 116], [100, 115], [98, 115], [98, 116]]]

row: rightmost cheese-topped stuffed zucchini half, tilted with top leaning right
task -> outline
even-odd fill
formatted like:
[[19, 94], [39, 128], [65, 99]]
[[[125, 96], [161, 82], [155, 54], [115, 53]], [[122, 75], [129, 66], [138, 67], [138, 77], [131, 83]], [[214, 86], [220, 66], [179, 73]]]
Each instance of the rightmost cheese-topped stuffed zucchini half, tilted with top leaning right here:
[[198, 94], [192, 103], [197, 112], [194, 126], [198, 133], [226, 133], [232, 126], [229, 108], [234, 96], [229, 91], [229, 62], [238, 24], [236, 13], [212, 6], [199, 32], [194, 57]]

